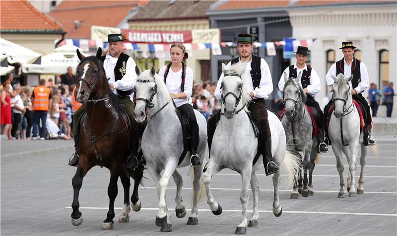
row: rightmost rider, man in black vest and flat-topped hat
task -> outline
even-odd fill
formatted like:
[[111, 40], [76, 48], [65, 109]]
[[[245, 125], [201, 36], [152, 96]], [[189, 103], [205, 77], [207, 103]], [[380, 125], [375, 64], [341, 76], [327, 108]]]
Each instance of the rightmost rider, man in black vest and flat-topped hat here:
[[[365, 110], [366, 119], [364, 125], [364, 146], [375, 145], [375, 140], [371, 137], [371, 123], [372, 117], [368, 102], [365, 100], [361, 92], [363, 92], [369, 86], [367, 67], [363, 62], [353, 57], [354, 49], [353, 42], [342, 42], [343, 59], [334, 63], [326, 75], [327, 85], [332, 86], [334, 80], [331, 75], [337, 76], [343, 74], [345, 77], [353, 75], [353, 79], [349, 81], [351, 88], [351, 95], [354, 100], [358, 101]], [[331, 101], [324, 108], [325, 113], [329, 110]], [[325, 115], [325, 122], [327, 124], [327, 114]], [[326, 129], [326, 135], [328, 137], [328, 131]], [[330, 140], [330, 139], [328, 139]], [[330, 141], [329, 141], [330, 142]], [[329, 145], [331, 145], [329, 143]]]

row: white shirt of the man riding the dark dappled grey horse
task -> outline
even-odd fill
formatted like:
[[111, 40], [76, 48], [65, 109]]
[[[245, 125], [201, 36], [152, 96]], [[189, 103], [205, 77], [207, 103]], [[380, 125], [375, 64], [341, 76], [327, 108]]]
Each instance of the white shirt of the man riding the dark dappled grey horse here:
[[[305, 63], [305, 66], [302, 69], [299, 69], [296, 63], [294, 64], [294, 69], [296, 69], [296, 76], [297, 78], [300, 78], [302, 76], [302, 73], [304, 70], [307, 71], [307, 65]], [[286, 82], [284, 75], [286, 75], [286, 78], [289, 79], [289, 67], [287, 67], [284, 72], [282, 73], [280, 77], [280, 81], [278, 81], [278, 89], [280, 91], [283, 90], [284, 84]], [[321, 91], [321, 82], [320, 82], [320, 77], [317, 74], [317, 72], [312, 68], [312, 72], [310, 73], [310, 84], [306, 87], [307, 88], [307, 94], [314, 96], [317, 93]], [[299, 85], [302, 87], [302, 81], [299, 79]]]

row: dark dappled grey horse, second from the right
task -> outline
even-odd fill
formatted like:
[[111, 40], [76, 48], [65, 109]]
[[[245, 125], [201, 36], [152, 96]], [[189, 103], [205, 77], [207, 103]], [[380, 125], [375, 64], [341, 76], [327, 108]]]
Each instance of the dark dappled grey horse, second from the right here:
[[[313, 169], [315, 160], [318, 156], [317, 138], [312, 138], [314, 129], [312, 118], [310, 117], [310, 112], [305, 105], [307, 95], [299, 85], [299, 80], [300, 78], [286, 79], [283, 89], [285, 111], [284, 116], [281, 119], [281, 123], [284, 126], [285, 136], [287, 137], [287, 145], [291, 147], [291, 152], [296, 156], [301, 157], [299, 152], [302, 152], [303, 154], [303, 184], [301, 173], [302, 168], [300, 168], [298, 183], [294, 183], [291, 199], [298, 198], [298, 192], [302, 193], [303, 197], [313, 195]], [[309, 183], [307, 179], [308, 169]]]

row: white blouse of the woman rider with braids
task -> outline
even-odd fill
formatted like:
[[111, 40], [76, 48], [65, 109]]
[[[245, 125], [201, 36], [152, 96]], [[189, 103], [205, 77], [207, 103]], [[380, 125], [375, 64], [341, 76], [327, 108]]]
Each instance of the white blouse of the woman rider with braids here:
[[[165, 70], [167, 66], [162, 66], [158, 75], [164, 79]], [[165, 85], [167, 86], [168, 91], [171, 93], [181, 93], [181, 83], [182, 83], [182, 68], [178, 72], [173, 72], [170, 68], [170, 71], [167, 75], [167, 80], [165, 81]], [[183, 104], [189, 103], [193, 106], [192, 102], [192, 90], [193, 90], [193, 70], [190, 67], [186, 67], [186, 75], [185, 75], [185, 86], [184, 93], [186, 93], [186, 98], [176, 98], [174, 99], [175, 105], [177, 107], [182, 106]]]

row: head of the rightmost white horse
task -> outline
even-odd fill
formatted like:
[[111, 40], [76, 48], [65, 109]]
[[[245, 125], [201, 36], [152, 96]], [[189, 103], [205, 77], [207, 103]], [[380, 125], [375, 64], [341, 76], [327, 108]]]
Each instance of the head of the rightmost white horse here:
[[349, 81], [353, 79], [353, 75], [349, 77], [345, 77], [343, 74], [339, 74], [336, 77], [334, 75], [331, 76], [335, 80], [332, 85], [333, 114], [336, 118], [340, 118], [346, 111], [346, 104], [352, 101]]

